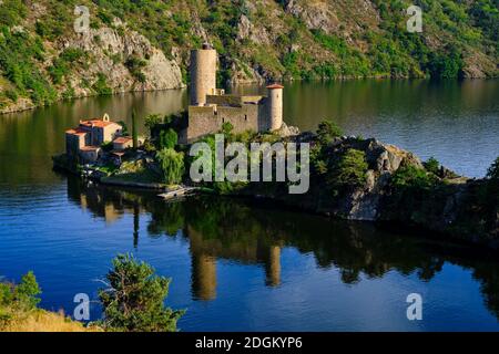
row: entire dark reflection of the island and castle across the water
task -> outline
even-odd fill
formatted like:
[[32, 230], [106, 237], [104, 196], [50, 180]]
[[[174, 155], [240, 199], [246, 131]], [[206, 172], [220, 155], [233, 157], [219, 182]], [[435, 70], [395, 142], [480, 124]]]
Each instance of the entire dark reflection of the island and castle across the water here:
[[[380, 230], [371, 223], [332, 221], [234, 199], [194, 198], [166, 204], [154, 195], [88, 186], [73, 178], [68, 179], [68, 195], [106, 222], [133, 214], [134, 247], [140, 248], [144, 237], [187, 241], [195, 300], [217, 298], [221, 261], [258, 264], [265, 270], [266, 285], [279, 287], [284, 281], [282, 250], [294, 248], [302, 254], [314, 254], [318, 268], [338, 269], [342, 282], [352, 287], [391, 271], [417, 274], [421, 282], [429, 282], [445, 263], [459, 266], [471, 271], [481, 284], [486, 305], [499, 317], [499, 264], [493, 254], [471, 252], [420, 235]], [[139, 229], [140, 218], [147, 220], [146, 230]]]

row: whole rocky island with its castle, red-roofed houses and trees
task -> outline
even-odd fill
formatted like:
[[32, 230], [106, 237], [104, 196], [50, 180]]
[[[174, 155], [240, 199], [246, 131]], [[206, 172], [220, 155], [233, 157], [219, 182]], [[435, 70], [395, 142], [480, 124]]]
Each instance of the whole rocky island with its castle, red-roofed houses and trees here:
[[[180, 185], [198, 187], [220, 195], [273, 199], [348, 220], [413, 225], [499, 247], [499, 158], [487, 178], [477, 180], [375, 138], [344, 136], [332, 121], [324, 121], [315, 133], [301, 133], [284, 123], [284, 86], [267, 86], [267, 97], [228, 95], [216, 87], [216, 51], [206, 43], [191, 56], [189, 112], [147, 116], [145, 138], [138, 136], [134, 113], [131, 136], [124, 123], [111, 122], [108, 115], [81, 121], [67, 131], [67, 152], [53, 158], [54, 166], [102, 184], [167, 191], [179, 190]], [[217, 136], [223, 137], [222, 146], [217, 146]], [[220, 179], [216, 167], [212, 168], [213, 157], [208, 158], [210, 171], [203, 171], [210, 178], [195, 180], [192, 165], [200, 156], [192, 145], [196, 143], [204, 144], [211, 156], [217, 149], [226, 152], [233, 143], [247, 149], [258, 144], [264, 150], [257, 150], [257, 156], [237, 157], [256, 164], [259, 175], [262, 167], [265, 173], [261, 153], [267, 153], [272, 176], [277, 176], [279, 157], [269, 144], [283, 150], [306, 146], [307, 156], [301, 158], [306, 157], [307, 170], [302, 173], [309, 188], [289, 194], [289, 180], [254, 181], [247, 168], [241, 180]], [[222, 159], [226, 166], [230, 156]], [[305, 168], [303, 162], [298, 169]]]

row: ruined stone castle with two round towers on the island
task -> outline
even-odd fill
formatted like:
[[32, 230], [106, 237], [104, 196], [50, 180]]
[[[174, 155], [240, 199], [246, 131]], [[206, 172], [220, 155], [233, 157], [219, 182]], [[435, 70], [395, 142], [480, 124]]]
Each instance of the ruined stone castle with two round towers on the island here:
[[234, 133], [268, 132], [283, 126], [283, 88], [267, 86], [268, 96], [228, 95], [216, 88], [217, 54], [208, 44], [191, 52], [191, 104], [180, 143], [220, 132], [231, 123]]

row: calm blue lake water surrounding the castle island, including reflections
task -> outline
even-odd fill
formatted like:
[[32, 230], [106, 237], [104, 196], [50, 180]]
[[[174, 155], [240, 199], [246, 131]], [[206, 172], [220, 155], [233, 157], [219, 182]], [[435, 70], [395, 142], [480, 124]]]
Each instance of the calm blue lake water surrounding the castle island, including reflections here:
[[[247, 200], [165, 204], [51, 168], [81, 118], [130, 122], [132, 107], [145, 116], [186, 103], [185, 91], [166, 91], [0, 116], [0, 278], [33, 270], [41, 305], [72, 314], [74, 295], [96, 300], [112, 258], [132, 252], [173, 279], [167, 305], [187, 309], [182, 331], [499, 330], [497, 254]], [[314, 129], [325, 117], [470, 177], [499, 155], [499, 81], [286, 85], [287, 123]], [[422, 321], [407, 320], [410, 293], [422, 296]]]

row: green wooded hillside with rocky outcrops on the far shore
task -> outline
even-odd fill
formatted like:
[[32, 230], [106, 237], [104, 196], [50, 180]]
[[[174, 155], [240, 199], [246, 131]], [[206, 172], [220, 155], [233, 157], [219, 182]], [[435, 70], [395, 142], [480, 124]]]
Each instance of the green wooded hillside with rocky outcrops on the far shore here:
[[[409, 33], [410, 4], [424, 11]], [[77, 33], [75, 6], [90, 9]], [[2, 0], [0, 112], [60, 98], [180, 87], [189, 51], [220, 82], [498, 75], [499, 0]]]

